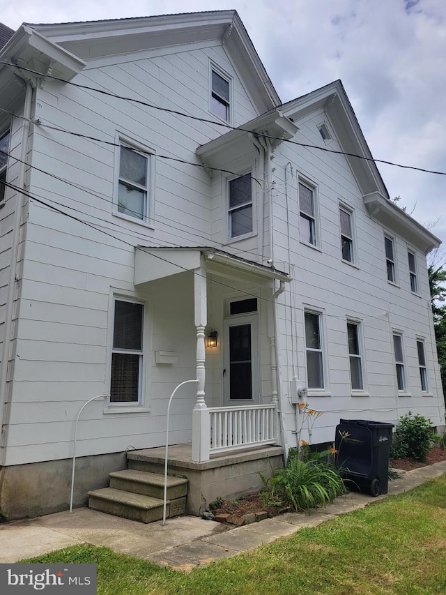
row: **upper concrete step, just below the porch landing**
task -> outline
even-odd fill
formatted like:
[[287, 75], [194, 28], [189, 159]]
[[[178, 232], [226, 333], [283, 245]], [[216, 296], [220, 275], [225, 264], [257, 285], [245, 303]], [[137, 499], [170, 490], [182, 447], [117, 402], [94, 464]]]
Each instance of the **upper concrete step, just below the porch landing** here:
[[[110, 488], [134, 492], [153, 498], [164, 498], [164, 475], [124, 469], [109, 474]], [[167, 476], [167, 499], [174, 500], [187, 495], [187, 479]]]

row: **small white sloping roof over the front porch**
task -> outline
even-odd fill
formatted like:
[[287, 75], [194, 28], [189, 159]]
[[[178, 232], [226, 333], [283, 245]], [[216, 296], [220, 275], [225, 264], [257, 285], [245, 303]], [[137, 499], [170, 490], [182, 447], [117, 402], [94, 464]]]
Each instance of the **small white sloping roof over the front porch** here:
[[224, 267], [226, 274], [231, 269], [234, 273], [254, 275], [262, 280], [291, 281], [284, 271], [271, 266], [258, 264], [233, 254], [200, 246], [175, 247], [136, 246], [134, 255], [134, 285], [148, 283], [155, 279], [194, 271], [205, 267], [210, 273], [218, 273]]

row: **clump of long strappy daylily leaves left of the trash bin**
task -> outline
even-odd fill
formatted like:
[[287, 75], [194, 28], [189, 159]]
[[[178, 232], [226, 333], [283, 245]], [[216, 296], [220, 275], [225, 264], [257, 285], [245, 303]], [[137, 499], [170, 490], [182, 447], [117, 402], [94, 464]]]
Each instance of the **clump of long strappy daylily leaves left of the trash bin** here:
[[326, 506], [346, 488], [332, 465], [322, 460], [300, 460], [291, 453], [285, 469], [277, 469], [270, 479], [270, 497], [295, 511]]

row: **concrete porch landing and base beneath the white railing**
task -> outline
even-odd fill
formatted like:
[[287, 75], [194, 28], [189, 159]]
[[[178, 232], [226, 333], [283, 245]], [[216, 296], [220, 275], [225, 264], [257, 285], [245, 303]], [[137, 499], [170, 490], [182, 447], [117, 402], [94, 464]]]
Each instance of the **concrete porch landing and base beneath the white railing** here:
[[[164, 474], [165, 447], [129, 451], [129, 469]], [[199, 516], [217, 497], [236, 498], [261, 490], [259, 472], [270, 477], [284, 466], [282, 446], [261, 446], [256, 449], [214, 455], [206, 462], [192, 462], [192, 444], [169, 446], [169, 475], [189, 480], [186, 513]]]

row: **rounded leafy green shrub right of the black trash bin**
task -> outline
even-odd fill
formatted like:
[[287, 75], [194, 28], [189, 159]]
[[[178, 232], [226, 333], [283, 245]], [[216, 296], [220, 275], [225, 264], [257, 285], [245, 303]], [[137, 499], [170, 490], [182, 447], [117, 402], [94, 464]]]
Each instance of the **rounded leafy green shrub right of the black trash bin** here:
[[412, 412], [403, 415], [395, 430], [393, 444], [390, 447], [390, 458], [408, 457], [417, 461], [425, 461], [431, 449], [432, 422], [422, 415]]

